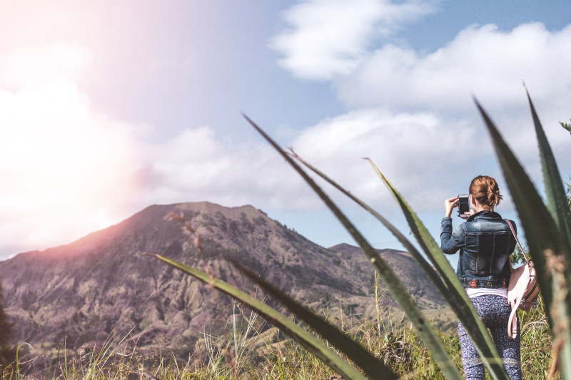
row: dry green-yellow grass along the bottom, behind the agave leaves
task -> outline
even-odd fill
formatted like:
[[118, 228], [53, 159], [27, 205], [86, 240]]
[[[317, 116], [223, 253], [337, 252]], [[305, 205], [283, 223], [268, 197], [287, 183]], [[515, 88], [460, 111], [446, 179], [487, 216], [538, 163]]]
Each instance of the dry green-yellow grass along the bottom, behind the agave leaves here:
[[[380, 302], [384, 289], [375, 288], [373, 298]], [[129, 336], [110, 334], [99, 347], [79, 351], [65, 348], [65, 342], [52, 356], [38, 356], [44, 369], [34, 371], [33, 361], [21, 361], [1, 372], [0, 380], [12, 379], [330, 379], [341, 377], [313, 354], [288, 339], [275, 327], [259, 319], [237, 302], [229, 305], [228, 333], [220, 337], [202, 332], [198, 349], [186, 361], [171, 352], [139, 354], [138, 347], [126, 344]], [[400, 309], [378, 308], [379, 319], [358, 319], [341, 315], [341, 307], [327, 314], [343, 332], [368, 349], [404, 379], [445, 379]], [[443, 314], [442, 311], [438, 314]], [[431, 322], [439, 325], [438, 314]], [[522, 324], [522, 371], [527, 379], [545, 379], [550, 369], [551, 337], [544, 305], [520, 314]], [[448, 320], [447, 320], [448, 321]], [[458, 368], [462, 368], [460, 343], [456, 327], [442, 331], [438, 337]], [[24, 347], [21, 347], [23, 350]], [[36, 364], [35, 364], [36, 365]], [[559, 379], [559, 377], [555, 377]]]

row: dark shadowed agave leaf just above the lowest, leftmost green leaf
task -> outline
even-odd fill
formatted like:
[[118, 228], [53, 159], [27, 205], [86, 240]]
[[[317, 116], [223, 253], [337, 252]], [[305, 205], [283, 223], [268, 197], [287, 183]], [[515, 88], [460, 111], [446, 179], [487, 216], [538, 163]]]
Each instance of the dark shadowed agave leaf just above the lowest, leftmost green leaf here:
[[273, 286], [270, 282], [262, 279], [258, 274], [244, 267], [236, 261], [232, 264], [238, 268], [240, 272], [246, 275], [253, 282], [256, 282], [262, 289], [278, 302], [287, 307], [290, 312], [295, 314], [299, 319], [308, 324], [315, 332], [320, 334], [323, 339], [333, 345], [336, 349], [343, 352], [348, 359], [359, 366], [370, 379], [398, 379], [400, 376], [395, 374], [390, 368], [381, 363], [369, 351], [360, 344], [350, 339], [346, 334], [337, 327], [325, 321], [323, 317], [314, 314], [307, 307], [303, 306], [295, 299], [282, 292], [278, 287]]

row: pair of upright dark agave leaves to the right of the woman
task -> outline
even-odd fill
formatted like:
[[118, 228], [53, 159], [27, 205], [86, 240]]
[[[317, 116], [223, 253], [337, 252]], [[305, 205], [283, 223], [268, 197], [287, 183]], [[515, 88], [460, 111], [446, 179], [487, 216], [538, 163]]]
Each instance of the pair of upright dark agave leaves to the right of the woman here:
[[537, 267], [537, 281], [553, 337], [554, 363], [560, 366], [562, 379], [571, 379], [571, 212], [555, 158], [529, 94], [527, 99], [540, 147], [547, 205], [542, 202], [495, 125], [480, 105], [477, 106], [492, 136], [505, 180], [520, 215], [530, 255]]

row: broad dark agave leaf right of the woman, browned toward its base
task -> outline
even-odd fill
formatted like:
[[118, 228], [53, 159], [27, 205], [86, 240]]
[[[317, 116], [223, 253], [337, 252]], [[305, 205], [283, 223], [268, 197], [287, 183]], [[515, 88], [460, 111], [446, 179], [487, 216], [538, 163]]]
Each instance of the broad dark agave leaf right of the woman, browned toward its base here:
[[[562, 378], [571, 379], [571, 313], [570, 267], [565, 262], [568, 253], [562, 235], [549, 210], [537, 194], [531, 180], [520, 163], [507, 147], [492, 120], [479, 103], [477, 108], [484, 118], [492, 137], [497, 158], [500, 161], [505, 180], [513, 197], [517, 213], [520, 215], [523, 230], [530, 247], [530, 255], [537, 268], [537, 282], [540, 284], [543, 299], [547, 305], [550, 327], [557, 349]], [[547, 140], [544, 141], [547, 144]], [[548, 145], [548, 144], [547, 144]], [[545, 148], [545, 147], [544, 147]], [[555, 344], [557, 342], [557, 344]]]

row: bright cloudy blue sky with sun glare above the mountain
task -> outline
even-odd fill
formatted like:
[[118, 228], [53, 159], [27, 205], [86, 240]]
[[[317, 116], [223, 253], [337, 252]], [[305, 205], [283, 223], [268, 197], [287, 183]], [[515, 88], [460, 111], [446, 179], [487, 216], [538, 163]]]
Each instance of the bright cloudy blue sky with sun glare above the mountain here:
[[[570, 14], [563, 0], [5, 1], [0, 260], [203, 200], [354, 244], [243, 114], [405, 235], [363, 158], [437, 241], [444, 200], [476, 175], [517, 221], [473, 98], [542, 192], [525, 82], [570, 178]], [[401, 247], [320, 183], [374, 247]]]

